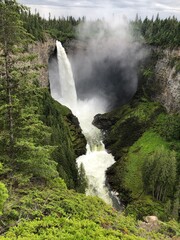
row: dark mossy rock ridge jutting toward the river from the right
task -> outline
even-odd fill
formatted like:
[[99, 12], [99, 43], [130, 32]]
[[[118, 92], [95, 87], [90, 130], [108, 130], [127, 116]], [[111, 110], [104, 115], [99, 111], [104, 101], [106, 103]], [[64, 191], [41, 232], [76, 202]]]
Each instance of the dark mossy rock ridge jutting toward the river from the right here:
[[[152, 125], [160, 112], [164, 112], [160, 104], [145, 98], [140, 101], [135, 99], [110, 113], [97, 115], [93, 123], [105, 131], [106, 148], [112, 152], [116, 160], [120, 160], [123, 153], [126, 153], [127, 149]], [[102, 118], [103, 125], [101, 125]]]

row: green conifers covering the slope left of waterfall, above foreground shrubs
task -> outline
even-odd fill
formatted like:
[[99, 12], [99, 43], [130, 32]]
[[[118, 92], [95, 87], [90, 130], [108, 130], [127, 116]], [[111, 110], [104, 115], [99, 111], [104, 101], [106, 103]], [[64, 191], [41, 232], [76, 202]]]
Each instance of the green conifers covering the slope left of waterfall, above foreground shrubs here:
[[82, 151], [86, 145], [78, 121], [38, 86], [38, 67], [29, 68], [35, 56], [25, 53], [32, 37], [20, 19], [24, 7], [1, 1], [0, 11], [2, 174], [16, 185], [61, 176], [69, 188], [76, 188], [78, 137]]

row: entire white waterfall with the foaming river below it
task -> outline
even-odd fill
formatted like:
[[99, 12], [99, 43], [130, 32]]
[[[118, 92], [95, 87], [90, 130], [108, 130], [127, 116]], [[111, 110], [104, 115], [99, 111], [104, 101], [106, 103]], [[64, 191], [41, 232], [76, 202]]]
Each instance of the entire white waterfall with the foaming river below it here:
[[105, 185], [105, 171], [115, 161], [113, 156], [105, 150], [101, 131], [92, 125], [94, 116], [105, 112], [106, 102], [95, 97], [83, 101], [77, 98], [71, 64], [59, 41], [56, 42], [56, 46], [59, 68], [59, 82], [57, 85], [60, 84], [60, 91], [57, 93], [57, 90], [53, 87], [51, 94], [61, 104], [69, 107], [78, 117], [80, 126], [87, 139], [87, 153], [77, 159], [78, 166], [81, 163], [83, 164], [88, 178], [86, 194], [99, 196], [112, 205], [112, 196], [114, 194]]

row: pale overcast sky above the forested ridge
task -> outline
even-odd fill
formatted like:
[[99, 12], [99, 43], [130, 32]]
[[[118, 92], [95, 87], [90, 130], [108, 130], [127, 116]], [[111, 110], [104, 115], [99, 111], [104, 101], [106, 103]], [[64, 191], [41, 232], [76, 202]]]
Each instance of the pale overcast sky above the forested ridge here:
[[88, 19], [125, 15], [134, 19], [136, 13], [142, 18], [156, 16], [161, 18], [175, 15], [180, 19], [180, 0], [19, 0], [43, 17], [86, 16]]

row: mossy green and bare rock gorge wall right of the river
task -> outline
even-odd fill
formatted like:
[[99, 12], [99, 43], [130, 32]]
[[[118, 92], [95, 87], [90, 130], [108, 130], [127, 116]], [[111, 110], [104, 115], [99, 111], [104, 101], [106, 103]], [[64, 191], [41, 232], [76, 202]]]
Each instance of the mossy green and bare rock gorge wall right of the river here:
[[[180, 116], [173, 114], [180, 112], [180, 51], [150, 50], [149, 59], [141, 65], [134, 97], [109, 113], [96, 115], [93, 121], [104, 132], [105, 147], [116, 161], [106, 171], [107, 182], [122, 203], [132, 203], [133, 211], [138, 204], [146, 207], [149, 204], [143, 199], [149, 192], [144, 189], [142, 177], [148, 156], [163, 146], [167, 151], [176, 151], [177, 165], [180, 159], [177, 150]], [[174, 147], [170, 146], [172, 143]], [[154, 209], [159, 207], [150, 202]], [[152, 206], [148, 211], [155, 214]], [[141, 212], [141, 207], [138, 208]]]

